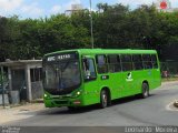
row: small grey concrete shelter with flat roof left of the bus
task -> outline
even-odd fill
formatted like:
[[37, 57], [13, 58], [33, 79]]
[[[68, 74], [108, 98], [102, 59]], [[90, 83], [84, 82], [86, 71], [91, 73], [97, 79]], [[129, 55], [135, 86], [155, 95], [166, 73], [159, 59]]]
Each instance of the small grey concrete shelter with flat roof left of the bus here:
[[[9, 92], [8, 95], [10, 103], [13, 103], [14, 99], [31, 102], [32, 100], [42, 98], [41, 60], [8, 60], [1, 62], [0, 68], [1, 72], [6, 72], [8, 76], [7, 92]], [[3, 90], [6, 90], [6, 88]], [[17, 98], [14, 98], [16, 95]]]

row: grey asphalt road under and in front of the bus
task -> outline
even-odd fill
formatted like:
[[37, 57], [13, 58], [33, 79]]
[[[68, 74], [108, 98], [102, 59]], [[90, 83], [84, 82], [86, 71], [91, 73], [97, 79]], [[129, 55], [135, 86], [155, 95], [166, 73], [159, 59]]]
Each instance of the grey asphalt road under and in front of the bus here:
[[[178, 82], [168, 82], [151, 91], [150, 96], [147, 99], [138, 99], [136, 96], [120, 99], [113, 101], [112, 105], [106, 109], [99, 109], [93, 105], [75, 112], [68, 111], [67, 108], [24, 112], [26, 115], [32, 116], [7, 123], [7, 125], [82, 126], [80, 130], [86, 130], [83, 126], [178, 126], [178, 110], [170, 104], [176, 99], [178, 99]], [[90, 127], [90, 130], [92, 131], [93, 127]], [[101, 132], [106, 131], [102, 130]], [[78, 130], [73, 131], [71, 129], [69, 131], [79, 133]]]

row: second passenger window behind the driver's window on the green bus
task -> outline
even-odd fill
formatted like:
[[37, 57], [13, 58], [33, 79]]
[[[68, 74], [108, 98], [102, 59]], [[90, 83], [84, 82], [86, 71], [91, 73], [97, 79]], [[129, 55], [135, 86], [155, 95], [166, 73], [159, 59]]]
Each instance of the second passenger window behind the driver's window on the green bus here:
[[120, 58], [117, 54], [110, 54], [108, 55], [108, 64], [109, 64], [109, 72], [120, 72]]

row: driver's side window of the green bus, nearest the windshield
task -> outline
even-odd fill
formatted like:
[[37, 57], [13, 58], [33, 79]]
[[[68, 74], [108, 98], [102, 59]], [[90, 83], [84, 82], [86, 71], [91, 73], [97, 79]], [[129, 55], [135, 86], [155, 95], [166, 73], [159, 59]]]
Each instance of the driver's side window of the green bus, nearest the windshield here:
[[85, 71], [85, 79], [87, 80], [93, 80], [97, 78], [96, 70], [95, 70], [95, 63], [92, 59], [83, 59], [83, 71]]

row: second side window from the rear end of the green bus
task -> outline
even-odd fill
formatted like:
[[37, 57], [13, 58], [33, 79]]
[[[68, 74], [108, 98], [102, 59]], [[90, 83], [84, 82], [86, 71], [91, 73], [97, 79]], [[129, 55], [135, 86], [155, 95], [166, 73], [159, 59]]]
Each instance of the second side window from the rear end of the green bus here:
[[142, 54], [144, 68], [145, 69], [152, 69], [151, 55], [150, 54]]

